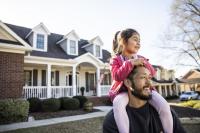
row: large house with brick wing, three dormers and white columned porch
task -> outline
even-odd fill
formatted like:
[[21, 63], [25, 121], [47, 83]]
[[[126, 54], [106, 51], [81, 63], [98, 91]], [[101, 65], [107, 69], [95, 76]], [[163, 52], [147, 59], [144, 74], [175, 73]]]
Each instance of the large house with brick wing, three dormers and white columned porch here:
[[43, 23], [30, 29], [0, 21], [0, 98], [74, 96], [80, 87], [86, 96], [107, 95], [111, 54], [102, 47], [99, 36], [84, 40], [74, 30], [60, 35]]

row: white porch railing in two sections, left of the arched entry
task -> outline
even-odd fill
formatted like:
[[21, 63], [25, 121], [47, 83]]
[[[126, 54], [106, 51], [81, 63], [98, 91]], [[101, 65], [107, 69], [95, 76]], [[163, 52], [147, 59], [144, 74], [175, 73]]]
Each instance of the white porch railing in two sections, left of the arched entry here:
[[[51, 98], [70, 97], [73, 94], [72, 86], [51, 86]], [[37, 97], [40, 99], [47, 98], [47, 86], [24, 86], [23, 97], [28, 99]]]

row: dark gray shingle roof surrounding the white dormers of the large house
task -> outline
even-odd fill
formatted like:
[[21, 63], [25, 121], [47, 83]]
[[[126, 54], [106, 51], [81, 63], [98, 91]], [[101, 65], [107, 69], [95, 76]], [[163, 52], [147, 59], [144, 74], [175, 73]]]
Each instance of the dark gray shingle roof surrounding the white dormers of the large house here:
[[[5, 23], [10, 29], [12, 29], [19, 37], [21, 37], [24, 41], [26, 41], [29, 45], [30, 42], [25, 37], [28, 35], [29, 32], [31, 32], [31, 28], [26, 28], [22, 26], [12, 25]], [[49, 57], [49, 58], [60, 58], [60, 59], [73, 59], [80, 55], [83, 55], [87, 53], [87, 51], [84, 48], [81, 48], [82, 46], [88, 44], [88, 40], [80, 39], [78, 42], [78, 55], [69, 55], [67, 54], [59, 44], [56, 44], [59, 40], [63, 38], [64, 35], [51, 33], [48, 35], [48, 50], [47, 52], [42, 51], [35, 51], [33, 50], [30, 55], [33, 56], [41, 56], [41, 57]], [[111, 54], [109, 51], [103, 49], [102, 50], [103, 58], [100, 59], [103, 62], [109, 62], [109, 58], [111, 57]]]

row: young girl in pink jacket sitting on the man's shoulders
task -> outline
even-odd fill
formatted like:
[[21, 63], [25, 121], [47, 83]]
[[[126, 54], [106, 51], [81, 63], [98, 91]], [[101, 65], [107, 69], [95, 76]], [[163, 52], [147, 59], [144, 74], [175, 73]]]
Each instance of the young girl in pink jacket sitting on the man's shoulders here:
[[[128, 74], [134, 66], [145, 65], [151, 76], [155, 75], [155, 70], [148, 62], [148, 59], [137, 55], [140, 49], [140, 36], [134, 29], [118, 31], [113, 40], [113, 52], [115, 56], [111, 59], [110, 69], [113, 83], [109, 91], [113, 102], [113, 111], [116, 124], [120, 133], [129, 133], [129, 119], [126, 112], [128, 104], [127, 88], [123, 84]], [[164, 132], [173, 132], [173, 119], [170, 106], [167, 101], [154, 89], [152, 89], [152, 99], [149, 103], [157, 110], [163, 125]]]

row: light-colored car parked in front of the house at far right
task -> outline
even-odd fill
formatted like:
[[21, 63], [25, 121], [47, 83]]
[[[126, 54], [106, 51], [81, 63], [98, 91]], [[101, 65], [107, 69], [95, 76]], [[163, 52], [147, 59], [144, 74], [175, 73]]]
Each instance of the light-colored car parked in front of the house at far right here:
[[194, 91], [186, 91], [180, 95], [180, 100], [192, 100], [192, 99], [198, 99], [199, 94]]

